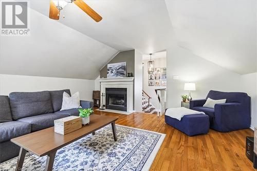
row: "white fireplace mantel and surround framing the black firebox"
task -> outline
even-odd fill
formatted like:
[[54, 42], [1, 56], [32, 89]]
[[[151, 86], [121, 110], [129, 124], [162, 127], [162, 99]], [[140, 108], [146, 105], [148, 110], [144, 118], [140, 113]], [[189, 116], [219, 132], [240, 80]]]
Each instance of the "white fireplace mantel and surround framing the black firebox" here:
[[[126, 88], [127, 89], [127, 112], [133, 112], [134, 104], [134, 77], [128, 78], [107, 78], [99, 79], [101, 94], [105, 95], [106, 88]], [[105, 98], [102, 102], [105, 105]]]

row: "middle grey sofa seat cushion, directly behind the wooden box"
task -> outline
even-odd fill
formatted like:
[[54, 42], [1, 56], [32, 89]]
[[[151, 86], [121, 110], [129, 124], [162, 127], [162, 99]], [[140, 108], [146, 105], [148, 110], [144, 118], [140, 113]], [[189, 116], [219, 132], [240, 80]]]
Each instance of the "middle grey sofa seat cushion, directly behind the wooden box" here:
[[68, 117], [69, 115], [61, 115], [57, 113], [47, 113], [43, 115], [27, 117], [19, 119], [20, 122], [26, 122], [31, 124], [31, 131], [45, 129], [54, 126], [53, 121], [61, 118]]

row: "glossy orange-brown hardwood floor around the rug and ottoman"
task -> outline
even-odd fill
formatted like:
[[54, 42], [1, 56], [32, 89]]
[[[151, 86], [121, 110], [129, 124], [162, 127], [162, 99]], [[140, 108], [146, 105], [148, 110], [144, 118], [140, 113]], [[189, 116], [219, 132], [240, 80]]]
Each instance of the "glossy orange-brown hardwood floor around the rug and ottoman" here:
[[119, 125], [166, 134], [150, 170], [257, 170], [245, 156], [245, 137], [251, 129], [218, 132], [189, 137], [164, 122], [164, 116], [148, 113], [122, 115], [97, 111], [97, 115], [118, 117]]

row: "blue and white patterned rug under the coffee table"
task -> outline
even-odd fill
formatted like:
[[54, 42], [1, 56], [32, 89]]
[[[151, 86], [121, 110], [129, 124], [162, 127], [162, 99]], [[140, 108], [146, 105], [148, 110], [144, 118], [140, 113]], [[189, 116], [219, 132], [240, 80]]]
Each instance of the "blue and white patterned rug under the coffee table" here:
[[[111, 125], [57, 151], [53, 170], [149, 170], [166, 135], [126, 126]], [[0, 170], [13, 170], [17, 157], [0, 164]], [[44, 170], [46, 157], [27, 153], [22, 170]]]

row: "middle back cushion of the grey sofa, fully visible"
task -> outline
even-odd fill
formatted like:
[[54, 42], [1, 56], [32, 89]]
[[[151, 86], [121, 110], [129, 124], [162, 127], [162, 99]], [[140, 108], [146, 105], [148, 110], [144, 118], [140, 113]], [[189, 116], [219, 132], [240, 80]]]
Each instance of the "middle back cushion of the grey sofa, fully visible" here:
[[49, 91], [11, 92], [9, 98], [14, 120], [53, 111]]

